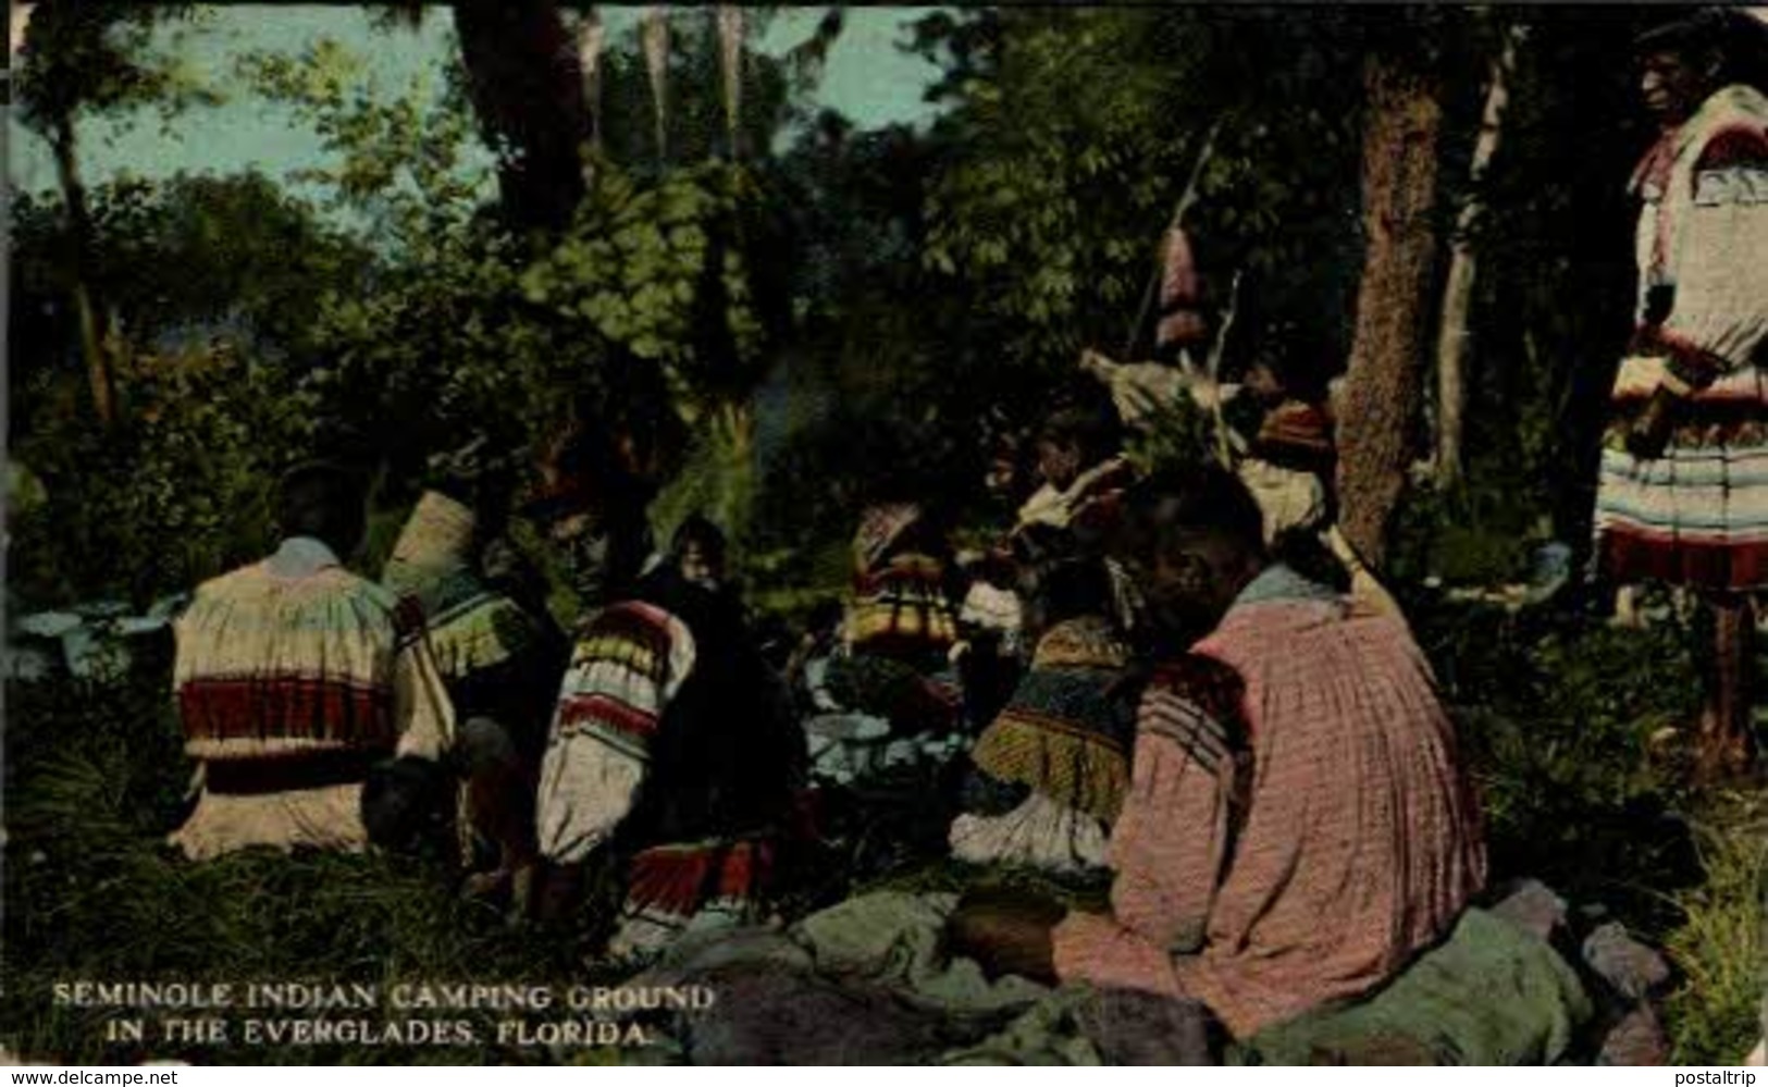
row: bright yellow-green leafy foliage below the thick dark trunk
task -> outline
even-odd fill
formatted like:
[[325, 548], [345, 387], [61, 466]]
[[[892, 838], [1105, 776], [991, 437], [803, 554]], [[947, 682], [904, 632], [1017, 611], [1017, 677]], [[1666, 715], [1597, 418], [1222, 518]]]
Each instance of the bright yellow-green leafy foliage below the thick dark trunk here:
[[656, 184], [608, 166], [550, 247], [470, 221], [433, 230], [375, 290], [324, 306], [331, 362], [311, 389], [403, 477], [470, 433], [532, 442], [580, 403], [654, 412], [667, 461], [688, 426], [741, 407], [766, 368], [773, 318], [748, 256], [757, 200], [723, 164]]

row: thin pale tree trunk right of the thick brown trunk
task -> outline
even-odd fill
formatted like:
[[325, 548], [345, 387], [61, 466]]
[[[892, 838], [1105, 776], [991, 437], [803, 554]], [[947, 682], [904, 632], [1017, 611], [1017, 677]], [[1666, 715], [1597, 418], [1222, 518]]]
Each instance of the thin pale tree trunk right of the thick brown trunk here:
[[1469, 196], [1455, 219], [1455, 239], [1448, 265], [1448, 286], [1443, 290], [1443, 318], [1437, 331], [1437, 445], [1436, 477], [1443, 486], [1460, 483], [1462, 444], [1467, 410], [1467, 359], [1473, 332], [1473, 283], [1478, 256], [1473, 251], [1473, 228], [1483, 210], [1480, 186], [1497, 152], [1503, 134], [1505, 106], [1510, 104], [1510, 76], [1517, 67], [1517, 46], [1528, 35], [1526, 27], [1512, 27], [1505, 48], [1492, 60], [1492, 78], [1485, 88], [1485, 111], [1480, 117], [1480, 136], [1473, 145], [1473, 166], [1467, 171]]

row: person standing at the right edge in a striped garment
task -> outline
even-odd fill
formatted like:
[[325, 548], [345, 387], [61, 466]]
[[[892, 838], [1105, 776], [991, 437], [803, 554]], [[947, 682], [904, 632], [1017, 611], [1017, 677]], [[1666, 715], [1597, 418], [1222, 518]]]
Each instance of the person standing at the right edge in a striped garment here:
[[1711, 613], [1708, 778], [1754, 765], [1750, 594], [1768, 585], [1768, 97], [1745, 71], [1763, 34], [1741, 11], [1703, 11], [1639, 41], [1662, 134], [1632, 180], [1635, 331], [1597, 490], [1598, 571], [1692, 589]]

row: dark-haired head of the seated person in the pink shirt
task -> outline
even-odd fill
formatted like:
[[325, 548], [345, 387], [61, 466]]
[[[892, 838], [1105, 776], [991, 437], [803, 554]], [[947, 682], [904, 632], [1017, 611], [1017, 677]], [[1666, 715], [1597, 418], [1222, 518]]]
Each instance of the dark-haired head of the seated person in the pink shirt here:
[[1169, 468], [1130, 488], [1116, 553], [1147, 601], [1156, 640], [1181, 649], [1215, 629], [1264, 569], [1264, 518], [1232, 472]]

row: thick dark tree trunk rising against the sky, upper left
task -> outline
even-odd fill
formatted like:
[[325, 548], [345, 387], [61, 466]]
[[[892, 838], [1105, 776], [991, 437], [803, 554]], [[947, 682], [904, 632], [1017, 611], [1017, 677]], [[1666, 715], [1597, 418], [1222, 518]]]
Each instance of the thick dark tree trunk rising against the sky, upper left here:
[[454, 0], [467, 92], [518, 228], [564, 228], [583, 200], [589, 140], [576, 42], [553, 0]]

